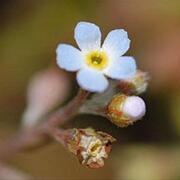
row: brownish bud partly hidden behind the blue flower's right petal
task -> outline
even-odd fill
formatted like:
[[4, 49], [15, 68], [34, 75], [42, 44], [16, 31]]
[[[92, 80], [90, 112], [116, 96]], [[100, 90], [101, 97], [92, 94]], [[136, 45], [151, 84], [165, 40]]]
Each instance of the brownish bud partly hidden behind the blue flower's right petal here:
[[148, 73], [138, 70], [136, 74], [126, 81], [120, 81], [119, 88], [125, 94], [141, 94], [148, 87]]

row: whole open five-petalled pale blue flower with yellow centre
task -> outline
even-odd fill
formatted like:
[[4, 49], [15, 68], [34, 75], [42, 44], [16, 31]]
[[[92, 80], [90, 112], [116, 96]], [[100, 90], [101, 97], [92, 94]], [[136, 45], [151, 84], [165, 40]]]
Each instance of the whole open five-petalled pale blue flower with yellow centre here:
[[132, 77], [136, 62], [131, 56], [122, 56], [130, 46], [127, 32], [116, 29], [109, 32], [101, 46], [101, 31], [95, 24], [79, 22], [74, 38], [80, 48], [60, 44], [57, 47], [57, 64], [67, 71], [78, 71], [79, 86], [91, 92], [103, 92], [108, 80]]

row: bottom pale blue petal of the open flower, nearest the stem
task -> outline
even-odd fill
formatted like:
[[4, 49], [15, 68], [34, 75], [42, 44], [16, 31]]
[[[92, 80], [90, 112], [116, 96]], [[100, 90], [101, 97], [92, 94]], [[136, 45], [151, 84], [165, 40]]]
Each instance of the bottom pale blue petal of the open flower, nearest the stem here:
[[77, 73], [78, 84], [91, 92], [103, 92], [108, 87], [108, 81], [101, 72], [82, 69]]

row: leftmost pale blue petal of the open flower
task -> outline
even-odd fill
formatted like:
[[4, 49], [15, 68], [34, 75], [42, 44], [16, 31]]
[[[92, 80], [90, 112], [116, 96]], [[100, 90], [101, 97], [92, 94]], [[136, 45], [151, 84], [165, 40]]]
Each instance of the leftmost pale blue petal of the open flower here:
[[83, 57], [81, 52], [71, 45], [60, 44], [57, 49], [57, 64], [67, 71], [77, 71], [81, 68]]

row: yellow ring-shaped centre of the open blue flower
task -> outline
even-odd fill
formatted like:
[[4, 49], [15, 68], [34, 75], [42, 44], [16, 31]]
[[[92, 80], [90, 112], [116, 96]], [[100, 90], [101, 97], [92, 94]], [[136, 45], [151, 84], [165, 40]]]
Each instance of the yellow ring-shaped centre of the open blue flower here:
[[103, 51], [92, 51], [86, 56], [86, 63], [89, 67], [102, 70], [108, 64], [108, 58]]

